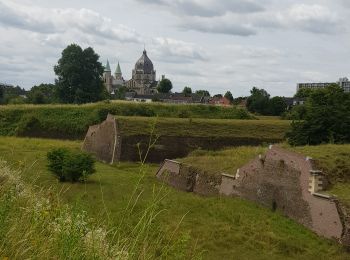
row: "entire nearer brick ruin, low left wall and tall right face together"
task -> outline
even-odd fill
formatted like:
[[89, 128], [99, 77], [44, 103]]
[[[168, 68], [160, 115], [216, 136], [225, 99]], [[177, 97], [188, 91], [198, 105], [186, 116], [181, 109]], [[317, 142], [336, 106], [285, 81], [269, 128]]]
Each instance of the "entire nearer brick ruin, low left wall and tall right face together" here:
[[183, 191], [254, 201], [281, 211], [318, 235], [350, 245], [346, 210], [324, 192], [327, 179], [312, 158], [270, 146], [265, 155], [238, 169], [236, 175], [208, 177], [199, 169], [165, 160], [156, 176]]

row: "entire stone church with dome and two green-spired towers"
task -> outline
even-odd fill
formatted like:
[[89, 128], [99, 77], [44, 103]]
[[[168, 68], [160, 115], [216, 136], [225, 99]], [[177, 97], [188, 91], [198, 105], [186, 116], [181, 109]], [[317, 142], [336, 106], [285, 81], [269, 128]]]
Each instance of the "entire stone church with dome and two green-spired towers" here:
[[107, 60], [103, 81], [109, 93], [113, 93], [120, 87], [127, 87], [129, 91], [136, 92], [139, 95], [157, 93], [158, 81], [156, 81], [156, 71], [151, 59], [147, 56], [146, 50], [143, 51], [142, 56], [136, 62], [130, 80], [124, 80], [119, 62], [114, 75], [112, 75], [109, 61]]

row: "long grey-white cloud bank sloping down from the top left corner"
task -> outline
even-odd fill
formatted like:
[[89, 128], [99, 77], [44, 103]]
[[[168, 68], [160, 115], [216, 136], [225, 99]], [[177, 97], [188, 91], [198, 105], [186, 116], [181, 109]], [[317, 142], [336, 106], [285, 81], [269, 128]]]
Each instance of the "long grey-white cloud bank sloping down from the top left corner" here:
[[142, 42], [141, 35], [135, 30], [121, 24], [114, 25], [110, 19], [84, 8], [79, 10], [27, 8], [0, 1], [0, 23], [42, 34], [57, 35], [77, 30], [110, 40]]

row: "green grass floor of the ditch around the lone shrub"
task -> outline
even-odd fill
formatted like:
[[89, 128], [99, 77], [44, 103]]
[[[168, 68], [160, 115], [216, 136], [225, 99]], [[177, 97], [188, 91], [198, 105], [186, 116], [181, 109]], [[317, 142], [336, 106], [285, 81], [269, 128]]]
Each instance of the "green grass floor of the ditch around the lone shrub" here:
[[[159, 215], [152, 221], [155, 234], [179, 238], [177, 259], [188, 259], [187, 248], [204, 259], [348, 259], [335, 242], [320, 238], [279, 213], [238, 198], [204, 198], [178, 192], [156, 181], [157, 165], [97, 163], [97, 173], [86, 184], [61, 184], [46, 170], [46, 153], [53, 147], [79, 149], [81, 143], [55, 140], [0, 138], [0, 157], [24, 169], [26, 182], [62, 190], [65, 202], [79, 205], [107, 226], [119, 225], [137, 187], [139, 199], [123, 222], [125, 233], [138, 223], [156, 197]], [[137, 183], [139, 185], [137, 186]], [[134, 200], [131, 200], [134, 201]], [[178, 230], [177, 227], [180, 224]], [[177, 230], [173, 233], [174, 230]], [[153, 239], [149, 237], [149, 243]], [[176, 247], [175, 247], [176, 248]]]

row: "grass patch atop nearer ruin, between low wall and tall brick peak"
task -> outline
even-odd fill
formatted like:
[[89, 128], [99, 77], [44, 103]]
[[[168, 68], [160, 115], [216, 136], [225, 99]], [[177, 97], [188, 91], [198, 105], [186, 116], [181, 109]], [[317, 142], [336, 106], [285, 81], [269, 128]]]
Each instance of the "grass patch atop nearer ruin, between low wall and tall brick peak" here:
[[222, 173], [235, 175], [237, 169], [254, 159], [259, 154], [263, 154], [267, 148], [264, 147], [235, 147], [221, 151], [203, 151], [192, 152], [179, 161], [204, 170], [211, 175], [220, 175]]

